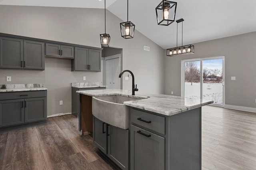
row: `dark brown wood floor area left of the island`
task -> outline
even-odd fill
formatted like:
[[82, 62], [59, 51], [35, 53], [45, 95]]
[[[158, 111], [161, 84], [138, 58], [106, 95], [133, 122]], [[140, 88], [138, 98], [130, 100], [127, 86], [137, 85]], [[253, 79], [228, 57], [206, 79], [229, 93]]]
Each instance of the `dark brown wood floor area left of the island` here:
[[2, 170], [115, 170], [92, 144], [80, 136], [73, 115], [48, 118], [46, 125], [0, 132]]

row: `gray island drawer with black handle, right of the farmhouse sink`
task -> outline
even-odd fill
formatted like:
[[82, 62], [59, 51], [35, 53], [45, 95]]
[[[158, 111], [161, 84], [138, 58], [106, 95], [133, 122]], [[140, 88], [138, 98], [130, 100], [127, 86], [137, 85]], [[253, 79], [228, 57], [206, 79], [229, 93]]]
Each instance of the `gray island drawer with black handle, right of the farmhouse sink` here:
[[131, 123], [165, 134], [165, 117], [130, 109]]

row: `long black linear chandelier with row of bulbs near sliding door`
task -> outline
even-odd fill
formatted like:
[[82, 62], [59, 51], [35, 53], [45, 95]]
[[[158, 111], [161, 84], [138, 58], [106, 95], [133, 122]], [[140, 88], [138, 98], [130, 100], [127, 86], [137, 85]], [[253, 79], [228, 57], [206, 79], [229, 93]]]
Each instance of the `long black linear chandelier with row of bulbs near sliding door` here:
[[[166, 49], [166, 55], [167, 56], [173, 56], [173, 55], [183, 55], [183, 54], [192, 54], [194, 53], [194, 45], [183, 45], [183, 18], [180, 20], [176, 20], [177, 22], [177, 43], [176, 47]], [[178, 23], [182, 22], [182, 36], [181, 36], [181, 46], [178, 47]]]

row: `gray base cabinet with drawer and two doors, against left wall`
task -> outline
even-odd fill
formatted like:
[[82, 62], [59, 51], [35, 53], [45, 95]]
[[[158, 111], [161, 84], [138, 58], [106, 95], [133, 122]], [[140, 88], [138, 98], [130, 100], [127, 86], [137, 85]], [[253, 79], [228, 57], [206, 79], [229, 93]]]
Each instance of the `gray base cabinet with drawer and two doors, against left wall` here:
[[44, 121], [46, 109], [46, 91], [1, 93], [0, 127]]

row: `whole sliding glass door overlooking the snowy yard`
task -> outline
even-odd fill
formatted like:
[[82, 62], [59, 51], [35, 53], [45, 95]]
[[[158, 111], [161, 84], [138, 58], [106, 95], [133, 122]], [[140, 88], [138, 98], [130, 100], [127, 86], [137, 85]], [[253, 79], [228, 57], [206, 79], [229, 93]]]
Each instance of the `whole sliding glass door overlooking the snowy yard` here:
[[182, 61], [182, 96], [224, 105], [224, 56]]

